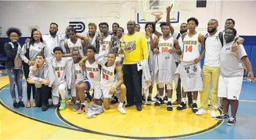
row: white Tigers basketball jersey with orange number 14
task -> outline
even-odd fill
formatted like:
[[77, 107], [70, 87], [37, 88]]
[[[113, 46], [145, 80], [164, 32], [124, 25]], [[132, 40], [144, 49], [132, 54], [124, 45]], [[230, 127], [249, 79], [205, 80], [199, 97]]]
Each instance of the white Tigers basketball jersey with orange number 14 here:
[[183, 61], [191, 61], [200, 56], [200, 46], [201, 43], [198, 41], [198, 36], [200, 33], [196, 33], [191, 38], [189, 37], [189, 34], [187, 34], [184, 39], [184, 54], [183, 54]]

